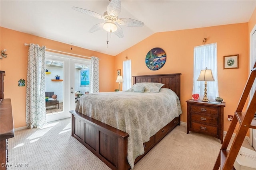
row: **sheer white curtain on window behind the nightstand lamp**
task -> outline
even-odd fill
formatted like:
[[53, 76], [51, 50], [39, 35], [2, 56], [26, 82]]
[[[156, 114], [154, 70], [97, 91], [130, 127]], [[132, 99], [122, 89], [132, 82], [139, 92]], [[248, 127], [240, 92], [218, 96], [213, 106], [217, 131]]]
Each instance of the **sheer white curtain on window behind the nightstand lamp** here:
[[207, 97], [215, 101], [219, 96], [218, 74], [217, 74], [217, 43], [194, 47], [194, 85], [193, 94], [199, 94], [200, 99], [204, 97], [204, 82], [196, 81], [201, 70], [212, 70], [215, 81], [207, 82]]

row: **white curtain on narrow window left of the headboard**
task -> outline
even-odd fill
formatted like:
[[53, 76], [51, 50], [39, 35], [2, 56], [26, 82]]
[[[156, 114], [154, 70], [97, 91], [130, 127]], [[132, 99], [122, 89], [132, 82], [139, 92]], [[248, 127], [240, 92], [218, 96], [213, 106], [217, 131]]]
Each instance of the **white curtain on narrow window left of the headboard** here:
[[123, 62], [123, 86], [122, 90], [128, 90], [132, 87], [132, 69], [131, 60], [126, 60]]

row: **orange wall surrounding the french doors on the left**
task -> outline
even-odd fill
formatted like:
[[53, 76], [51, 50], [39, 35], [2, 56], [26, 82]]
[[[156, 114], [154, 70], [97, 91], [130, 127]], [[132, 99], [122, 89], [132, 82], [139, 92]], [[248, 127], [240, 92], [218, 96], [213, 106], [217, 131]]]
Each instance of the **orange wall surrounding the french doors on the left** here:
[[103, 53], [98, 53], [88, 49], [52, 41], [42, 37], [14, 31], [0, 27], [0, 49], [7, 49], [7, 58], [0, 60], [0, 70], [6, 71], [4, 77], [4, 98], [11, 98], [12, 112], [14, 117], [14, 127], [26, 126], [26, 86], [19, 87], [18, 80], [27, 78], [28, 46], [24, 43], [35, 43], [44, 45], [48, 49], [64, 51], [84, 56], [95, 56], [100, 59], [100, 92], [113, 91], [115, 75], [114, 57]]

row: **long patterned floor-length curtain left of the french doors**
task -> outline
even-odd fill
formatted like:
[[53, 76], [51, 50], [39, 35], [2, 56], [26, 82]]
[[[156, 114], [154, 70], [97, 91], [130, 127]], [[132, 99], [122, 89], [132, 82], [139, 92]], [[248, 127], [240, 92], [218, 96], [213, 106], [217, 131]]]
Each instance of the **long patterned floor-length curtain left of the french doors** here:
[[45, 113], [45, 46], [30, 44], [26, 87], [26, 126], [47, 125]]

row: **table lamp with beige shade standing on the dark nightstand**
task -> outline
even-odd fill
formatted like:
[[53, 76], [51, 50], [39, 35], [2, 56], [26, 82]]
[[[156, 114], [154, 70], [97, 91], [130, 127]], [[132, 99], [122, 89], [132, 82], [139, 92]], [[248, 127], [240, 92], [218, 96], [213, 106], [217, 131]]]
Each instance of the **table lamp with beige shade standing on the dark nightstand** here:
[[207, 67], [205, 70], [201, 70], [197, 81], [204, 81], [204, 98], [202, 102], [209, 102], [207, 98], [207, 81], [215, 81], [212, 75], [212, 70], [207, 70]]

